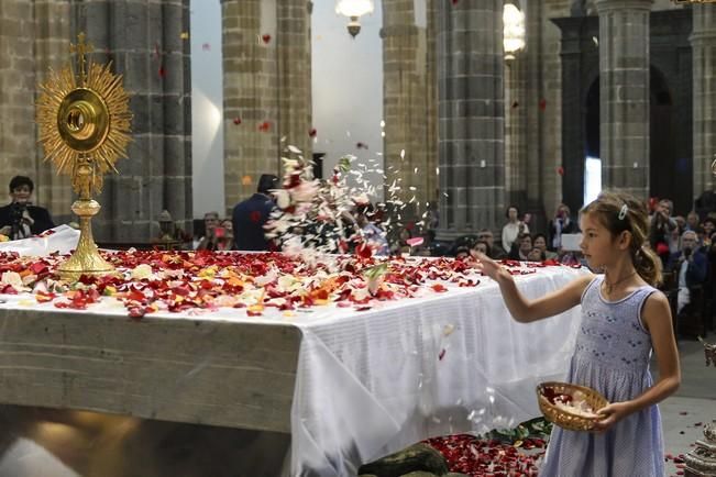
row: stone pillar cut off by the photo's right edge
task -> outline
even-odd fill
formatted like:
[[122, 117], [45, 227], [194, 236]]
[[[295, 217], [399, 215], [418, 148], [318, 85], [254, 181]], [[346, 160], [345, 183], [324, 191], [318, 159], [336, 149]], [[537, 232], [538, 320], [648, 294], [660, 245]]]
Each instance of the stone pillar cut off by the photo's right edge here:
[[694, 198], [716, 185], [716, 4], [693, 5]]

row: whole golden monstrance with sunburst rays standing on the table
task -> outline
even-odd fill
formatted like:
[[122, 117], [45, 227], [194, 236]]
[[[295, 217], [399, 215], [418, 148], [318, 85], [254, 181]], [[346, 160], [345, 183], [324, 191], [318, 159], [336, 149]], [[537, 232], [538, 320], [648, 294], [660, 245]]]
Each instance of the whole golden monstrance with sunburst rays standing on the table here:
[[59, 267], [59, 275], [70, 280], [114, 270], [92, 239], [90, 221], [101, 207], [91, 196], [102, 191], [106, 173], [117, 173], [117, 159], [126, 157], [132, 121], [122, 76], [110, 71], [111, 62], [87, 62], [85, 55], [92, 47], [85, 44], [84, 33], [77, 38], [77, 44], [70, 45], [70, 52], [77, 54], [77, 73], [70, 65], [59, 71], [51, 68], [47, 82], [40, 85], [36, 111], [45, 160], [55, 164], [57, 174], [71, 177], [79, 196], [71, 207], [79, 217], [79, 241], [75, 253]]

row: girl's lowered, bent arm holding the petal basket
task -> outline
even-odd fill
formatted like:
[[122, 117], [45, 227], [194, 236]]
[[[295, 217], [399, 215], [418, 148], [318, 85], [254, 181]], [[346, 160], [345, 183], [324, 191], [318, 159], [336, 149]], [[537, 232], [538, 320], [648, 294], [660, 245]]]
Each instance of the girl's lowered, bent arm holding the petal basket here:
[[615, 402], [603, 408], [599, 413], [605, 419], [597, 422], [595, 430], [605, 431], [626, 415], [667, 399], [681, 384], [679, 351], [671, 324], [669, 300], [660, 291], [652, 293], [645, 303], [641, 321], [651, 334], [651, 345], [657, 354], [659, 379], [645, 393], [625, 402]]

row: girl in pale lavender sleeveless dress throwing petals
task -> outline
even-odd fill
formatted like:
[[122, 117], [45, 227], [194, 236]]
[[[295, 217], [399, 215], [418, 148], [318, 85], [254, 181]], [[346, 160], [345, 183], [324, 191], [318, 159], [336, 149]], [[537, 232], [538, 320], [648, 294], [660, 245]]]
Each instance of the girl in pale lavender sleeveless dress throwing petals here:
[[[592, 269], [563, 289], [527, 300], [511, 275], [478, 255], [477, 268], [499, 285], [515, 320], [529, 323], [582, 304], [582, 324], [568, 380], [599, 391], [597, 432], [554, 426], [541, 476], [664, 475], [661, 418], [656, 406], [681, 381], [679, 353], [667, 298], [653, 286], [661, 260], [648, 248], [649, 218], [627, 193], [603, 192], [581, 211], [580, 244]], [[659, 378], [649, 359], [657, 354]]]

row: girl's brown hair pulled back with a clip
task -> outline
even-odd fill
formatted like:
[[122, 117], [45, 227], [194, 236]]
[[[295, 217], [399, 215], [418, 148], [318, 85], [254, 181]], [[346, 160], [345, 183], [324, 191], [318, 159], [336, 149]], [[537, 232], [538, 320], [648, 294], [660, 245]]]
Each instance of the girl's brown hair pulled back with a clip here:
[[626, 192], [605, 191], [580, 213], [594, 214], [613, 237], [629, 232], [629, 252], [637, 273], [651, 286], [661, 282], [661, 258], [649, 247], [649, 214], [642, 201]]

